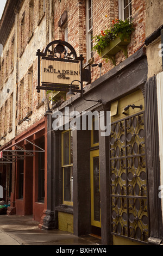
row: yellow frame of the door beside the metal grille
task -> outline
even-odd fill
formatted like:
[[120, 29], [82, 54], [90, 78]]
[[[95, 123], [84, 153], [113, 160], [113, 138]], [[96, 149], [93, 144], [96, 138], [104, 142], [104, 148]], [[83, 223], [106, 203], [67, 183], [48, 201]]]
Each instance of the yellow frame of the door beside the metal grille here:
[[[99, 157], [99, 149], [90, 152], [90, 180], [91, 180], [91, 225], [101, 228], [101, 209], [100, 221], [94, 220], [94, 196], [93, 196], [93, 157]], [[100, 175], [99, 175], [99, 191], [100, 191]]]

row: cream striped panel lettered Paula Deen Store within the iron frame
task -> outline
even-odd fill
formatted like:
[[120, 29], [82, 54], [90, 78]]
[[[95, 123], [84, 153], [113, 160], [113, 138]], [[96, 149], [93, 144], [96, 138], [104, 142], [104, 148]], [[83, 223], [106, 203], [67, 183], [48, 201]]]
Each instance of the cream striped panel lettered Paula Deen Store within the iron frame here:
[[[79, 63], [41, 60], [41, 83], [71, 84], [74, 80], [80, 81]], [[72, 85], [80, 83], [76, 81]]]

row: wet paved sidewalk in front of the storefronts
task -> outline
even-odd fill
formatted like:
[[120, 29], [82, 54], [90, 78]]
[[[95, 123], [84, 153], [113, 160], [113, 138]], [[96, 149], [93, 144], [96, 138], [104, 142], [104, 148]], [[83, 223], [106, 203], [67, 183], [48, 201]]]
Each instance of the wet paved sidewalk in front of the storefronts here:
[[61, 230], [42, 230], [32, 216], [0, 215], [1, 245], [101, 245], [97, 237], [75, 236]]

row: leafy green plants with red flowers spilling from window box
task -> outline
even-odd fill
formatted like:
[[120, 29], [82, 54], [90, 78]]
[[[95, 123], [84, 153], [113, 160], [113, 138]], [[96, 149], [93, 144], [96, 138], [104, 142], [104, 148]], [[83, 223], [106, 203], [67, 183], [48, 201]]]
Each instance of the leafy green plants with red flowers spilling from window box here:
[[109, 46], [110, 42], [115, 38], [120, 38], [121, 41], [129, 40], [131, 33], [134, 31], [133, 23], [129, 20], [112, 20], [110, 29], [101, 31], [101, 34], [93, 36], [95, 39], [95, 45], [93, 50], [97, 51], [101, 56], [105, 47]]

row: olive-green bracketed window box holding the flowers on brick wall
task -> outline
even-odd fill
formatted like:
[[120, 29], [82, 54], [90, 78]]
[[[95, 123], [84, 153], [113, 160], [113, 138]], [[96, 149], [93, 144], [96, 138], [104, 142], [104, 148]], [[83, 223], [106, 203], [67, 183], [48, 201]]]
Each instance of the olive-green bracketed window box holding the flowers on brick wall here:
[[110, 41], [110, 44], [104, 48], [101, 52], [102, 58], [110, 59], [114, 65], [115, 62], [115, 55], [119, 51], [123, 51], [124, 55], [127, 58], [127, 45], [130, 43], [130, 38], [126, 38], [121, 40], [120, 38], [115, 38], [114, 40]]

